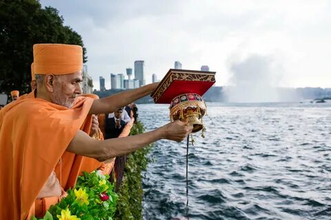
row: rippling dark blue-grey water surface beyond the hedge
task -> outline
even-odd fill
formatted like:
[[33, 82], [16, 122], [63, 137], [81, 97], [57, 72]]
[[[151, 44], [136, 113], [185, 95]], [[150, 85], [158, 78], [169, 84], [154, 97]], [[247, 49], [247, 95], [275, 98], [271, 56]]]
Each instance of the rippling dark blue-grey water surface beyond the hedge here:
[[[148, 130], [168, 105], [141, 104]], [[208, 103], [189, 148], [190, 219], [331, 219], [331, 104]], [[144, 219], [185, 216], [185, 142], [157, 142]]]

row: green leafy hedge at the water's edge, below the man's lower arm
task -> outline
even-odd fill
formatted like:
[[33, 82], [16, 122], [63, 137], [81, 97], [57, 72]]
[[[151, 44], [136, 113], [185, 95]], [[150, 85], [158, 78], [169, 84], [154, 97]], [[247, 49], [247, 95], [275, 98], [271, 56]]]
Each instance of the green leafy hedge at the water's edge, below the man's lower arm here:
[[[138, 122], [132, 127], [130, 135], [143, 133], [144, 130], [143, 124]], [[117, 201], [117, 212], [114, 219], [143, 219], [141, 172], [147, 168], [149, 162], [147, 154], [151, 147], [152, 144], [128, 155], [123, 181], [118, 192], [119, 200]]]

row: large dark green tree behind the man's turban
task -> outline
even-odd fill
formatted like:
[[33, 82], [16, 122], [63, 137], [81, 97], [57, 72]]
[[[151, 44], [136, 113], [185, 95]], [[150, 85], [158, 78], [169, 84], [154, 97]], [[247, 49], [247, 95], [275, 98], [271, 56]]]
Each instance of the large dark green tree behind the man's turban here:
[[81, 36], [63, 25], [57, 9], [43, 9], [37, 0], [0, 0], [0, 93], [30, 91], [35, 43], [81, 45], [83, 62], [87, 61]]

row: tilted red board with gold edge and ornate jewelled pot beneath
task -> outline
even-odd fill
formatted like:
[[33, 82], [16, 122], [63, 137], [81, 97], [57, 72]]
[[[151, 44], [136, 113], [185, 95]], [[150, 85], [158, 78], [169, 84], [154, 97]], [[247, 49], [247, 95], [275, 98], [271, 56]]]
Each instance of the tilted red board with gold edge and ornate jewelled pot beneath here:
[[152, 93], [155, 103], [170, 104], [170, 120], [188, 120], [193, 131], [203, 129], [203, 94], [215, 83], [216, 72], [170, 69]]

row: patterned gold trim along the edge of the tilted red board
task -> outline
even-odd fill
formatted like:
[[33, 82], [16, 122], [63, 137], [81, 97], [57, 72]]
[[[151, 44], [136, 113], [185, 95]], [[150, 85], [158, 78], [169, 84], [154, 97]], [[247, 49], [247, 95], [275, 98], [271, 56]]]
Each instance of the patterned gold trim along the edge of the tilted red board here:
[[174, 80], [181, 81], [195, 81], [195, 82], [215, 82], [216, 72], [203, 72], [196, 70], [186, 69], [170, 69], [165, 75], [161, 83], [152, 93], [154, 102], [157, 102], [161, 98], [162, 94], [168, 89]]

